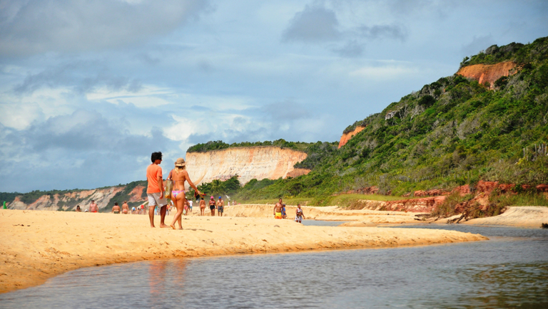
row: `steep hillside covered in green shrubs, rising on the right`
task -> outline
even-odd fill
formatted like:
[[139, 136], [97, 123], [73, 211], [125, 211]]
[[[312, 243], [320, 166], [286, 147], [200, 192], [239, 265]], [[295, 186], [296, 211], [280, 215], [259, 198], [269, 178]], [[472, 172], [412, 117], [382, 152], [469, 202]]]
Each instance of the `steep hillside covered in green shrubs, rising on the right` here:
[[519, 71], [497, 80], [494, 90], [460, 75], [440, 78], [347, 127], [366, 126], [340, 150], [309, 145], [317, 155], [298, 167], [312, 168], [310, 174], [250, 182], [235, 198], [321, 199], [373, 185], [400, 195], [480, 179], [548, 182], [548, 38], [487, 52], [461, 66], [514, 61]]

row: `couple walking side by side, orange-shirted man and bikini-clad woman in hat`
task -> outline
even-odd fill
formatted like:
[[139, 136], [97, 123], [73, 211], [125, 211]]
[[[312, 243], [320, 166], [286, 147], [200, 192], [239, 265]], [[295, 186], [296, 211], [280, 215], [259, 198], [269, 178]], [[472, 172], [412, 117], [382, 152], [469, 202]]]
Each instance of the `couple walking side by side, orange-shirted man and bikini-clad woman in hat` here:
[[148, 218], [151, 221], [151, 227], [154, 227], [154, 208], [158, 206], [160, 208], [160, 227], [167, 228], [171, 226], [171, 229], [175, 229], [175, 223], [178, 222], [179, 229], [183, 229], [183, 225], [181, 224], [181, 215], [183, 214], [183, 209], [186, 203], [185, 182], [188, 182], [188, 184], [196, 190], [196, 193], [201, 194], [201, 192], [193, 184], [191, 177], [188, 176], [185, 159], [178, 158], [175, 162], [175, 168], [169, 172], [167, 178], [173, 181], [171, 199], [177, 207], [177, 213], [173, 218], [173, 222], [167, 226], [164, 223], [164, 220], [166, 219], [168, 201], [164, 195], [165, 190], [163, 186], [162, 169], [158, 166], [158, 164], [161, 164], [162, 162], [162, 153], [153, 152], [151, 155], [151, 161], [152, 164], [146, 169], [146, 179], [148, 181], [146, 195], [148, 197]]

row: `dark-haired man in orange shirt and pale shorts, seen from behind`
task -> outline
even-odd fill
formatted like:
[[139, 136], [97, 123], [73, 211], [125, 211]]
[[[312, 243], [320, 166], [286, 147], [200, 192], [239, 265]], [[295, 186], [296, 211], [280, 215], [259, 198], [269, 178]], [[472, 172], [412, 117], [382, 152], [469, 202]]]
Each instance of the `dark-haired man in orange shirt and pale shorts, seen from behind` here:
[[162, 168], [158, 166], [162, 162], [162, 153], [153, 152], [151, 155], [152, 164], [146, 168], [146, 180], [148, 181], [148, 187], [146, 188], [146, 195], [148, 197], [148, 219], [151, 220], [151, 227], [154, 226], [154, 209], [156, 206], [160, 208], [160, 227], [168, 228], [163, 221], [166, 219], [166, 210], [168, 208], [168, 201], [163, 196], [163, 180], [162, 180]]

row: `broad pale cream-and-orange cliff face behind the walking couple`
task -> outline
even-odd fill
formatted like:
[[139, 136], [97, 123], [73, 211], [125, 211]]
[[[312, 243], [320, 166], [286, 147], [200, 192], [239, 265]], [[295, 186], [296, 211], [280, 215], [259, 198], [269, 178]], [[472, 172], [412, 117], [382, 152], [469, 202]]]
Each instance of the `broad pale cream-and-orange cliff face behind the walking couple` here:
[[251, 179], [278, 179], [308, 174], [310, 169], [293, 165], [307, 154], [274, 146], [235, 147], [209, 152], [188, 152], [186, 168], [195, 184], [225, 180], [238, 175], [241, 184]]

